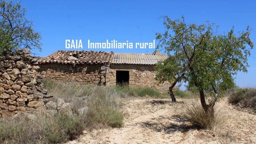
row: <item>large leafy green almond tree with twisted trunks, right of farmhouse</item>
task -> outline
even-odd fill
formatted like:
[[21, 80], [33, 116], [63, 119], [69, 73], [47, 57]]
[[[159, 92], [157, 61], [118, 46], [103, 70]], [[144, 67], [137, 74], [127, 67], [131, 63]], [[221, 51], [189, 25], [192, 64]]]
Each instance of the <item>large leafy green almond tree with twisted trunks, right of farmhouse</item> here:
[[[213, 113], [213, 106], [223, 96], [227, 87], [234, 84], [233, 76], [238, 71], [247, 72], [247, 58], [253, 48], [250, 39], [251, 28], [234, 33], [234, 27], [227, 33], [214, 31], [214, 23], [186, 24], [184, 18], [171, 20], [163, 16], [165, 32], [156, 32], [159, 40], [157, 49], [163, 49], [168, 59], [158, 62], [156, 79], [160, 82], [186, 82], [188, 90], [199, 92], [205, 112]], [[179, 86], [179, 85], [178, 85]], [[208, 102], [205, 98], [212, 98]], [[175, 98], [175, 97], [174, 97]]]

